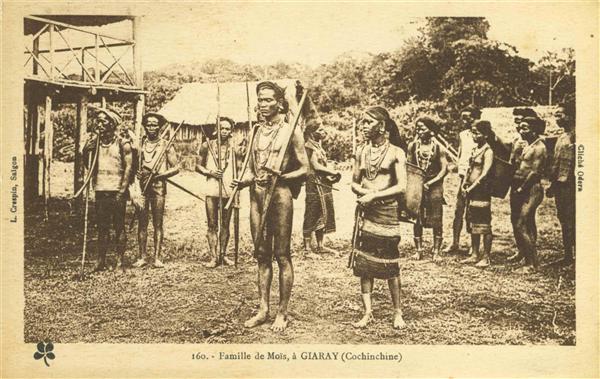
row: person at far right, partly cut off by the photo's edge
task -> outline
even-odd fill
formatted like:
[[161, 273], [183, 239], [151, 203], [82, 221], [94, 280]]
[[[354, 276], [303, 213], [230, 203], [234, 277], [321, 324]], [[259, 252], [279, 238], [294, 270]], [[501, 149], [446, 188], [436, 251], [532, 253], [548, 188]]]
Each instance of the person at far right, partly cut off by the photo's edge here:
[[554, 147], [548, 197], [556, 202], [565, 255], [563, 263], [573, 262], [575, 253], [575, 101], [561, 105], [556, 122], [563, 129]]

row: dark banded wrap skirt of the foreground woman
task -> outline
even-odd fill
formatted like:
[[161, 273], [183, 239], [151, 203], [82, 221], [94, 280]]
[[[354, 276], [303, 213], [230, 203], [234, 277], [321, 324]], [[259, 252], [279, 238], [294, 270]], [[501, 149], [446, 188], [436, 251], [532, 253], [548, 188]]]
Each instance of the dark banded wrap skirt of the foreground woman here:
[[356, 241], [353, 272], [358, 277], [391, 279], [400, 274], [400, 222], [395, 199], [370, 204]]

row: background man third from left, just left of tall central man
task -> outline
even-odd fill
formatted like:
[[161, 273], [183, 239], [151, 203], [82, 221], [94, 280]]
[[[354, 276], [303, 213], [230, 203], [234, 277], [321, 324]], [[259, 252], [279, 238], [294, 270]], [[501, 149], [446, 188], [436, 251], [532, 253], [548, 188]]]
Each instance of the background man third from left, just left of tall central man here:
[[[223, 211], [223, 220], [221, 220], [221, 253], [217, 251], [217, 234], [219, 229], [219, 201], [224, 206], [229, 200], [229, 191], [231, 191], [230, 187], [234, 177], [233, 165], [235, 164], [239, 170], [241, 166], [240, 160], [243, 160], [244, 154], [239, 146], [234, 146], [231, 139], [234, 126], [235, 122], [232, 119], [220, 117], [221, 150], [218, 151], [216, 140], [207, 139], [200, 145], [198, 151], [196, 172], [206, 176], [206, 187], [204, 190], [206, 195], [206, 223], [208, 226], [206, 238], [212, 256], [210, 262], [206, 264], [206, 267], [209, 268], [214, 268], [221, 264], [233, 264], [233, 261], [225, 256], [227, 243], [229, 242], [229, 222], [232, 212]], [[217, 128], [215, 128], [215, 135], [216, 133]], [[221, 162], [221, 169], [219, 169], [217, 163], [219, 160]], [[223, 197], [219, 199], [219, 185], [221, 181], [223, 183]], [[238, 205], [234, 204], [234, 206]], [[221, 256], [223, 257], [223, 262], [220, 261]]]

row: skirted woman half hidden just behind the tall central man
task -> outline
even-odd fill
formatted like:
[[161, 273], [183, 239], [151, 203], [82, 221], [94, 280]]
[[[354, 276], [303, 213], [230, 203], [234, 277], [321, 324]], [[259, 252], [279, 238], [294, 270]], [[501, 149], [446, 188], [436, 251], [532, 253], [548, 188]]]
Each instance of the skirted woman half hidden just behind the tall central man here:
[[306, 207], [304, 210], [304, 250], [307, 255], [318, 258], [310, 253], [313, 233], [317, 240], [316, 252], [323, 249], [323, 237], [335, 232], [335, 211], [333, 207], [332, 185], [337, 183], [341, 174], [327, 167], [327, 155], [321, 146], [324, 130], [318, 128], [306, 135], [306, 154], [310, 167], [306, 181]]

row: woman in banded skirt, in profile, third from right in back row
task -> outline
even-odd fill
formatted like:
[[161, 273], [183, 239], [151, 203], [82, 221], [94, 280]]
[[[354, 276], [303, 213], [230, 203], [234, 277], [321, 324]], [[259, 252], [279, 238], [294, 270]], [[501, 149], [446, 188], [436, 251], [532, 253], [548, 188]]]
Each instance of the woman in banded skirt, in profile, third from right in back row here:
[[[489, 185], [489, 173], [494, 163], [492, 148], [485, 142], [485, 136], [490, 134], [492, 126], [489, 121], [477, 121], [471, 128], [471, 134], [476, 146], [469, 158], [469, 169], [465, 183], [461, 189], [467, 198], [467, 213], [465, 221], [467, 232], [471, 233], [471, 249], [473, 255], [462, 263], [476, 263], [476, 267], [490, 265], [492, 250], [492, 195]], [[481, 253], [481, 238], [483, 238], [483, 253]]]

